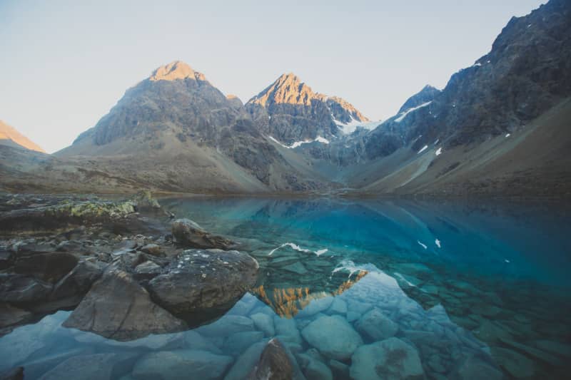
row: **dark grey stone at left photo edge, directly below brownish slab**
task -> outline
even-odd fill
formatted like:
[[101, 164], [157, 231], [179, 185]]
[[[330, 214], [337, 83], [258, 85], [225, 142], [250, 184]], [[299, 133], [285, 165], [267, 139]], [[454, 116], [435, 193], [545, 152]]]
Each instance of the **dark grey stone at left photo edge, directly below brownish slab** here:
[[0, 302], [25, 304], [45, 301], [52, 285], [25, 274], [0, 273]]

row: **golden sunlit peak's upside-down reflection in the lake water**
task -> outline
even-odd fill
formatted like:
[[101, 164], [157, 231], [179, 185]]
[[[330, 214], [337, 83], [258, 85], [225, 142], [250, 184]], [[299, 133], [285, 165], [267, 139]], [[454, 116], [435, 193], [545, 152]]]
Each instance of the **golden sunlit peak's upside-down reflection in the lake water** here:
[[271, 292], [266, 292], [266, 288], [261, 285], [253, 289], [253, 293], [262, 299], [263, 302], [271, 307], [280, 317], [291, 318], [295, 317], [295, 315], [305, 309], [305, 307], [308, 307], [312, 302], [320, 302], [321, 299], [325, 299], [326, 297], [342, 294], [350, 289], [350, 287], [353, 287], [356, 282], [367, 274], [368, 272], [365, 270], [358, 272], [355, 279], [348, 279], [342, 282], [332, 292], [310, 292], [308, 287], [274, 288]]

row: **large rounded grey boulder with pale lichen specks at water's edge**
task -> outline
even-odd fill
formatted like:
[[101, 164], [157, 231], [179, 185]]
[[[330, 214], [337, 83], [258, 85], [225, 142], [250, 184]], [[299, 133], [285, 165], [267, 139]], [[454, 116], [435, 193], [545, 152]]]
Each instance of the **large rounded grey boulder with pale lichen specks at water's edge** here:
[[153, 300], [176, 317], [200, 323], [223, 314], [256, 284], [259, 265], [238, 251], [186, 250], [148, 282]]

